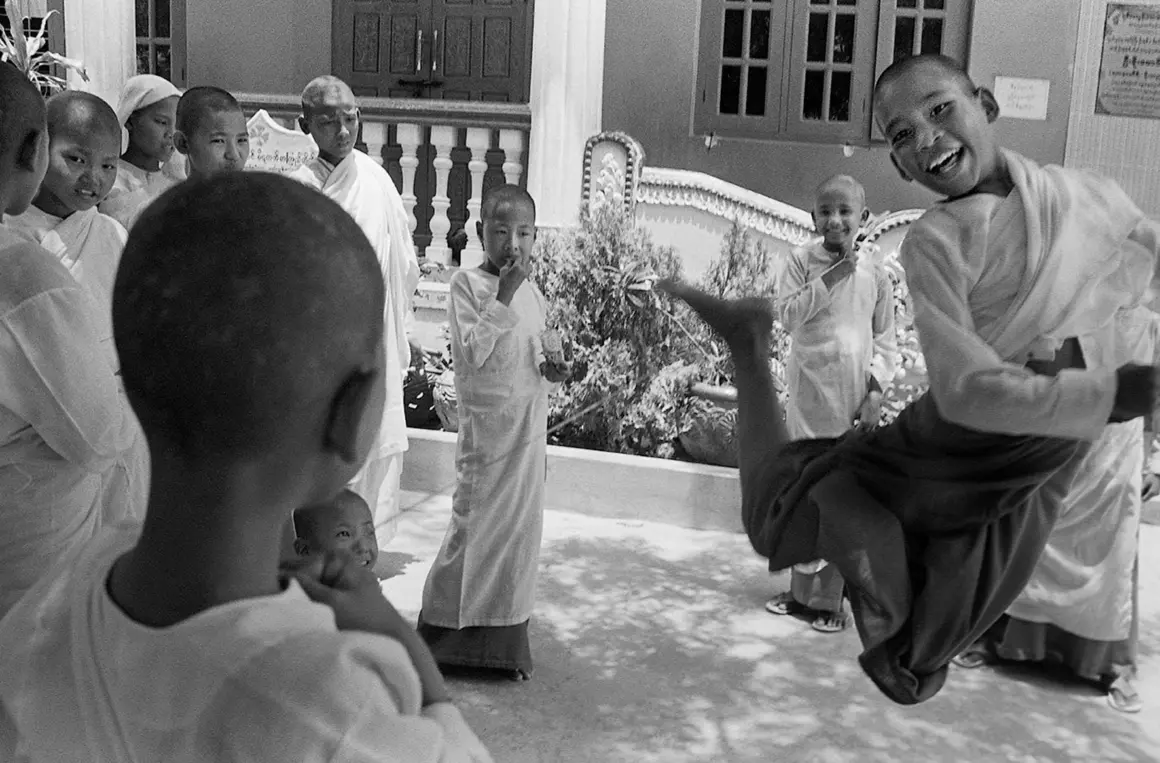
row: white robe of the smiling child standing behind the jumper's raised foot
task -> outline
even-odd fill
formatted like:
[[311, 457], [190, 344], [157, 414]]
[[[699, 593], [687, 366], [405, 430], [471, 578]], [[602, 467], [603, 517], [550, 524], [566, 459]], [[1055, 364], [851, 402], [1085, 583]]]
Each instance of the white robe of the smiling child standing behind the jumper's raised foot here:
[[785, 423], [793, 439], [838, 437], [853, 424], [868, 376], [887, 390], [898, 366], [894, 290], [869, 254], [826, 289], [834, 255], [820, 242], [795, 249], [778, 278], [777, 317], [792, 344], [785, 364]]

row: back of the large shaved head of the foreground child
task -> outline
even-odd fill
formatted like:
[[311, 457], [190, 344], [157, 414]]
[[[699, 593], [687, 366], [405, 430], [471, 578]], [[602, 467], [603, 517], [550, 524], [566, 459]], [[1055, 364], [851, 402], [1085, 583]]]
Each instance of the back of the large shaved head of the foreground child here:
[[247, 458], [302, 435], [298, 416], [375, 357], [383, 299], [362, 230], [302, 183], [225, 173], [172, 188], [133, 226], [113, 298], [151, 448]]

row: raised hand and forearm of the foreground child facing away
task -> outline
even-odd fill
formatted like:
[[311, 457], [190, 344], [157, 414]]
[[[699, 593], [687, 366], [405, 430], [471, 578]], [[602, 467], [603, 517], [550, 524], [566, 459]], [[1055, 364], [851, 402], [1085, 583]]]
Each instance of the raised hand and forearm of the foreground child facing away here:
[[451, 700], [430, 649], [383, 595], [375, 573], [358, 564], [350, 552], [328, 552], [325, 557], [284, 565], [283, 571], [298, 581], [311, 601], [334, 610], [334, 623], [340, 631], [379, 633], [401, 642], [419, 673], [423, 706]]

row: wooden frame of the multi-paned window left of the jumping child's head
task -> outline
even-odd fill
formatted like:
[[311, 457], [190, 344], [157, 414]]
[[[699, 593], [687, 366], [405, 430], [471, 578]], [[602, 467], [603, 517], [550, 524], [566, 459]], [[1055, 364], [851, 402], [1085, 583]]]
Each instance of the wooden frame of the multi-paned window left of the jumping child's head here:
[[[923, 17], [938, 16], [943, 20], [941, 51], [966, 64], [970, 49], [973, 0], [945, 0], [942, 10], [927, 9], [926, 0], [916, 0], [914, 12], [897, 8], [897, 0], [853, 0], [848, 6], [836, 5], [838, 0], [702, 0], [699, 29], [697, 32], [697, 72], [690, 135], [710, 136], [720, 139], [767, 140], [778, 143], [803, 143], [821, 145], [872, 146], [884, 144], [884, 138], [873, 124], [872, 92], [879, 74], [893, 61], [894, 22], [900, 16], [918, 16], [921, 30]], [[842, 64], [833, 64], [834, 14], [850, 8], [855, 14], [854, 63], [851, 72], [849, 122], [833, 123], [825, 119], [805, 119], [802, 116], [805, 72], [818, 64], [806, 61], [809, 24], [811, 10], [826, 9], [831, 14], [827, 28], [827, 61], [825, 66], [839, 70]], [[722, 67], [724, 65], [751, 64], [747, 58], [752, 9], [773, 12], [771, 30], [782, 23], [784, 35], [770, 35], [768, 80], [766, 90], [766, 114], [746, 116], [745, 90], [747, 70], [741, 79], [742, 97], [738, 115], [719, 114]], [[723, 54], [724, 21], [726, 9], [744, 9], [742, 58], [725, 58]], [[914, 45], [921, 44], [921, 32], [915, 35]], [[867, 51], [858, 58], [858, 51]], [[778, 59], [780, 53], [780, 59]], [[780, 70], [780, 71], [778, 71]], [[828, 83], [824, 95], [824, 109], [828, 108]]]

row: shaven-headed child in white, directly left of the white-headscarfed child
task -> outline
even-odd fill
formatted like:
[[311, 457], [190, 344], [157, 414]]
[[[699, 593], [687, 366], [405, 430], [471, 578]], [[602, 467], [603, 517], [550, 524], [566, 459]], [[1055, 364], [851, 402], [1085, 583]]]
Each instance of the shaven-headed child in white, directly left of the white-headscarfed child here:
[[96, 205], [113, 188], [121, 152], [117, 115], [103, 100], [65, 90], [49, 99], [49, 169], [32, 205], [7, 224], [56, 254], [96, 300], [97, 336], [113, 347], [113, 281], [125, 228]]

